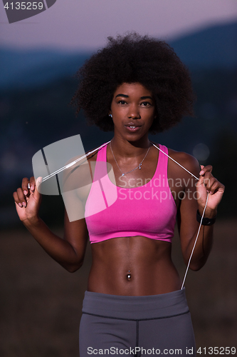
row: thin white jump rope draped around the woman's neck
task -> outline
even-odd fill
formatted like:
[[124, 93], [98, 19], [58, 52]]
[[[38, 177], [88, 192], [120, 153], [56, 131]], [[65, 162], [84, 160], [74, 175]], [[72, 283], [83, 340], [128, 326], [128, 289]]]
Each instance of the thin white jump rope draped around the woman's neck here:
[[[111, 140], [110, 140], [110, 141], [111, 141]], [[105, 146], [105, 145], [107, 145], [107, 144], [109, 144], [110, 141], [107, 141], [107, 143], [102, 144], [102, 145], [101, 145], [100, 147], [98, 147], [97, 149], [94, 149], [93, 151], [90, 151], [88, 154], [85, 154], [85, 155], [81, 156], [79, 159], [74, 160], [74, 161], [71, 162], [70, 164], [63, 166], [63, 167], [61, 167], [60, 169], [58, 169], [57, 171], [54, 171], [52, 174], [50, 174], [50, 175], [44, 177], [44, 178], [42, 179], [42, 182], [48, 180], [48, 178], [51, 178], [51, 177], [53, 177], [53, 176], [59, 174], [60, 172], [62, 172], [62, 171], [65, 170], [65, 169], [69, 169], [71, 166], [77, 164], [78, 161], [83, 160], [83, 159], [85, 159], [87, 156], [89, 156], [90, 154], [93, 154], [95, 151], [102, 149], [102, 147]], [[162, 151], [161, 149], [159, 149], [159, 148], [158, 148], [156, 145], [154, 145], [153, 143], [152, 143], [152, 145], [153, 145], [155, 148], [157, 148], [159, 151]], [[194, 174], [191, 174], [191, 172], [190, 172], [189, 170], [185, 169], [184, 166], [181, 166], [181, 164], [179, 164], [177, 161], [175, 161], [174, 159], [172, 159], [172, 157], [170, 157], [169, 155], [167, 155], [166, 153], [164, 153], [164, 151], [162, 151], [162, 153], [163, 153], [164, 155], [168, 156], [169, 159], [171, 159], [172, 161], [174, 161], [174, 162], [175, 162], [177, 165], [179, 165], [182, 169], [184, 169], [185, 171], [187, 171], [191, 176], [193, 176], [194, 178], [196, 178], [196, 180], [199, 180], [199, 178], [197, 178]], [[187, 265], [187, 267], [186, 267], [186, 271], [185, 271], [185, 274], [184, 274], [184, 280], [183, 280], [183, 283], [182, 283], [182, 285], [181, 285], [181, 289], [184, 288], [184, 281], [185, 281], [185, 279], [186, 279], [186, 274], [187, 274], [187, 272], [188, 272], [188, 270], [189, 270], [189, 265], [190, 265], [191, 257], [193, 256], [193, 253], [194, 253], [194, 249], [195, 249], [195, 246], [196, 246], [196, 241], [197, 241], [197, 239], [198, 239], [198, 237], [199, 237], [199, 232], [200, 232], [200, 229], [201, 229], [201, 223], [202, 223], [202, 220], [203, 220], [203, 218], [204, 218], [204, 214], [205, 214], [205, 211], [206, 211], [206, 206], [207, 206], [208, 200], [209, 200], [209, 193], [207, 193], [206, 204], [205, 204], [205, 207], [204, 207], [204, 211], [203, 211], [203, 213], [202, 213], [202, 216], [201, 216], [201, 221], [200, 221], [200, 224], [199, 224], [199, 229], [198, 229], [198, 232], [197, 232], [197, 234], [196, 234], [196, 239], [195, 239], [195, 241], [194, 241], [194, 247], [192, 248], [192, 251], [191, 251], [191, 255], [190, 255], [190, 258], [189, 258], [189, 263], [188, 263], [188, 265]]]

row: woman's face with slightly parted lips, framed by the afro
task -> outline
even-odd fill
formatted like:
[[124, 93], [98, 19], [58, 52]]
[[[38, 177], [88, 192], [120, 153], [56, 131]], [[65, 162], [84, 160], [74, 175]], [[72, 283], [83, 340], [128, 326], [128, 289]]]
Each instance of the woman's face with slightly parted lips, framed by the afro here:
[[123, 83], [115, 91], [110, 113], [115, 135], [128, 141], [148, 136], [155, 117], [152, 92], [139, 83]]

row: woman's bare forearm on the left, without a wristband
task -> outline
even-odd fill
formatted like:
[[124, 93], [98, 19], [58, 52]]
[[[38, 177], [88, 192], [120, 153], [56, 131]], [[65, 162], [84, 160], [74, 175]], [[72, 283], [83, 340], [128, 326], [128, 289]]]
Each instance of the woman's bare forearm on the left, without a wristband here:
[[71, 272], [80, 268], [83, 258], [80, 259], [73, 246], [63, 238], [56, 236], [41, 218], [36, 218], [33, 221], [23, 221], [23, 224], [46, 253], [63, 268]]

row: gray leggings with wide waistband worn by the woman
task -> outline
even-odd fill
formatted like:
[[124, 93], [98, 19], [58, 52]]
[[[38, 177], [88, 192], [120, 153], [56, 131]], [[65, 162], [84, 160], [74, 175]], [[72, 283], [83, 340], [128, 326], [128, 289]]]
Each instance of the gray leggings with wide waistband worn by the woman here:
[[85, 291], [80, 357], [196, 356], [185, 289], [150, 296]]

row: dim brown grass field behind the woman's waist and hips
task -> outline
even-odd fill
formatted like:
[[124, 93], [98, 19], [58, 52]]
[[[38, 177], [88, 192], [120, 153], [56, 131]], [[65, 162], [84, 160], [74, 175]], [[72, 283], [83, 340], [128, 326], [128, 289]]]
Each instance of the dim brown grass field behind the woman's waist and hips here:
[[[62, 231], [53, 231], [62, 236]], [[237, 221], [217, 221], [209, 261], [186, 278], [197, 348], [237, 347], [236, 232]], [[183, 276], [177, 232], [173, 258]], [[0, 356], [79, 356], [80, 311], [90, 261], [88, 247], [83, 267], [68, 273], [26, 229], [1, 232]]]

